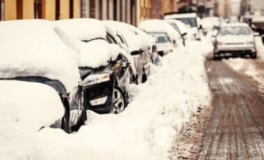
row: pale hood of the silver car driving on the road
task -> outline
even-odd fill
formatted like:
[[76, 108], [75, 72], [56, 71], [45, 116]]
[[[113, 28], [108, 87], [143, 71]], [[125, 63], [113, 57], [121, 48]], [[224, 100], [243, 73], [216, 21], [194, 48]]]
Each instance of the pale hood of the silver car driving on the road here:
[[224, 43], [240, 43], [240, 42], [254, 42], [253, 35], [217, 35], [217, 42]]

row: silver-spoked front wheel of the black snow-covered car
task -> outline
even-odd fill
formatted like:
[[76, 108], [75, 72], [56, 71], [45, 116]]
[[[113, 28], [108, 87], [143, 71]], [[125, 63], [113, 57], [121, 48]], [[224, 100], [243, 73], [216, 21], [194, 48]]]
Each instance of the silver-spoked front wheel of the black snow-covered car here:
[[113, 90], [112, 109], [110, 113], [118, 114], [124, 111], [125, 108], [126, 108], [126, 100], [124, 98], [124, 94], [120, 88], [115, 86]]

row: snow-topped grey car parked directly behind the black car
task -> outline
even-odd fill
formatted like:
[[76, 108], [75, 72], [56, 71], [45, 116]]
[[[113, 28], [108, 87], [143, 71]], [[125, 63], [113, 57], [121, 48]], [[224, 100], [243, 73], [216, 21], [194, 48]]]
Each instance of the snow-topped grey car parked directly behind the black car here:
[[[107, 28], [116, 29], [122, 33], [129, 47], [129, 52], [133, 56], [136, 77], [139, 83], [147, 81], [150, 74], [150, 65], [155, 58], [155, 40], [150, 35], [140, 31], [140, 29], [124, 22], [104, 21]], [[155, 61], [155, 60], [154, 60]]]

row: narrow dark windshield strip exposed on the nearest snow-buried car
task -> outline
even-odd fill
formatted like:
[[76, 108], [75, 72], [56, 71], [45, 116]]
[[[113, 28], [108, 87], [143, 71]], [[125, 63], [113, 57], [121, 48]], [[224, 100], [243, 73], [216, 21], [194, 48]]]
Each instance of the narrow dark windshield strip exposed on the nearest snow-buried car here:
[[[1, 79], [1, 78], [0, 78]], [[4, 80], [15, 80], [15, 81], [28, 81], [28, 82], [36, 82], [36, 83], [43, 83], [47, 84], [54, 88], [58, 93], [62, 93], [63, 95], [67, 94], [65, 86], [58, 80], [48, 79], [46, 77], [14, 77], [8, 78]]]

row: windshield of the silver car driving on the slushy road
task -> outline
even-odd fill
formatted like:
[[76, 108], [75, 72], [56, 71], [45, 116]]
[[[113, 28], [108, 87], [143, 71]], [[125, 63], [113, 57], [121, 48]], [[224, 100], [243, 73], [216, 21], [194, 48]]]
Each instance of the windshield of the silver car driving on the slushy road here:
[[247, 26], [221, 27], [218, 32], [220, 35], [249, 35], [250, 33]]

